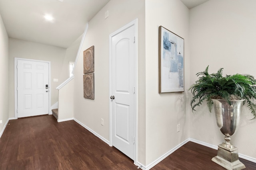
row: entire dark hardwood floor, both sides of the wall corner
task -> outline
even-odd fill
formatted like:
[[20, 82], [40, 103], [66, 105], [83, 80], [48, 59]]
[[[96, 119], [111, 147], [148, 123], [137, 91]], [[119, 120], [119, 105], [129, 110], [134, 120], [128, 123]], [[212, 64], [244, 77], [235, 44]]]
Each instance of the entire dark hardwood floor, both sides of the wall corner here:
[[[75, 121], [44, 115], [10, 120], [0, 139], [0, 170], [136, 170], [133, 160]], [[188, 142], [152, 170], [222, 170], [217, 151]], [[240, 159], [248, 170], [256, 163]]]

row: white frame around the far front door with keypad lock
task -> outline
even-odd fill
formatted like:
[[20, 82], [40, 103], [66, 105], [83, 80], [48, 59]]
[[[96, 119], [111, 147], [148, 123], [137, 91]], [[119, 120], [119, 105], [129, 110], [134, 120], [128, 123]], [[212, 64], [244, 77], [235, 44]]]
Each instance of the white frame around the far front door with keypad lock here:
[[49, 78], [49, 103], [48, 103], [48, 108], [49, 108], [49, 115], [52, 114], [51, 112], [51, 62], [50, 61], [43, 61], [43, 60], [34, 60], [34, 59], [24, 59], [24, 58], [18, 58], [14, 57], [14, 118], [18, 119], [18, 91], [17, 91], [17, 86], [18, 86], [18, 69], [17, 69], [17, 63], [18, 60], [25, 60], [25, 61], [36, 61], [36, 62], [43, 62], [43, 63], [48, 63], [48, 78]]

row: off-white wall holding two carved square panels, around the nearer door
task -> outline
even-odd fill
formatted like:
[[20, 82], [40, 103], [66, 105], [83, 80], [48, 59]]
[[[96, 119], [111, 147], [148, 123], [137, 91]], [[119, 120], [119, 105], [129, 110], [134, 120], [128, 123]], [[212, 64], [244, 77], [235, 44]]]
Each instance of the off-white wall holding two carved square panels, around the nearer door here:
[[[138, 18], [138, 53], [139, 65], [145, 68], [145, 49], [144, 49], [144, 0], [110, 0], [96, 16], [89, 22], [89, 28], [85, 41], [80, 51], [74, 70], [74, 118], [92, 129], [102, 138], [109, 141], [109, 35]], [[109, 11], [109, 17], [104, 20], [104, 13]], [[83, 97], [83, 51], [94, 45], [94, 82], [95, 100]], [[138, 70], [139, 83], [144, 81], [144, 70]], [[142, 83], [144, 84], [144, 82]], [[139, 84], [138, 102], [143, 106], [145, 102], [145, 86]], [[138, 158], [140, 162], [145, 162], [145, 108], [138, 108], [139, 121], [139, 143], [140, 149]], [[104, 119], [104, 126], [101, 125]]]

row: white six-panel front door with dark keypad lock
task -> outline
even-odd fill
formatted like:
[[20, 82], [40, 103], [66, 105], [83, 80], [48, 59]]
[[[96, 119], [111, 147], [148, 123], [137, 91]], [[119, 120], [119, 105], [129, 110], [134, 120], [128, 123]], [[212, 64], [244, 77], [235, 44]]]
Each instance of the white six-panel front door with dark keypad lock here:
[[49, 114], [49, 63], [17, 60], [19, 117]]

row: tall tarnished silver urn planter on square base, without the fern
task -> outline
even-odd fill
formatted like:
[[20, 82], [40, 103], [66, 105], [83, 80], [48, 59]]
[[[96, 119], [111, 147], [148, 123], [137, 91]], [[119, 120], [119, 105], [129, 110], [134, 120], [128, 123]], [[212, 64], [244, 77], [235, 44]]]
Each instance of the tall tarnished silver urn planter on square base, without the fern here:
[[217, 156], [212, 161], [227, 170], [242, 170], [244, 164], [238, 159], [238, 148], [230, 143], [230, 136], [235, 133], [240, 121], [240, 112], [244, 100], [230, 100], [229, 105], [225, 100], [212, 99], [216, 122], [220, 131], [225, 135], [225, 142], [218, 145]]

